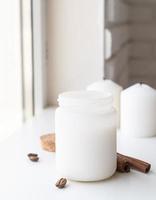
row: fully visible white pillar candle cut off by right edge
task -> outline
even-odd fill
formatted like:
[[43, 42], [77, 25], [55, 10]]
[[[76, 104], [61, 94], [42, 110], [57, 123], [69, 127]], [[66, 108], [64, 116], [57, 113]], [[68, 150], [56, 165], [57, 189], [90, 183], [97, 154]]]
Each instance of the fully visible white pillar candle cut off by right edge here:
[[135, 137], [156, 135], [156, 90], [135, 84], [121, 93], [121, 132]]

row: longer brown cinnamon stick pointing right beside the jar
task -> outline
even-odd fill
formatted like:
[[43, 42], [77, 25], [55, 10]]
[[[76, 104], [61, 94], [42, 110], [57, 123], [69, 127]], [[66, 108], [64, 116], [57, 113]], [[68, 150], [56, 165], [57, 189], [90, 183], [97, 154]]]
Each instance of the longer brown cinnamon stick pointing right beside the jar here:
[[132, 158], [129, 156], [122, 155], [120, 153], [117, 153], [118, 159], [125, 159], [126, 162], [129, 163], [130, 167], [132, 169], [138, 170], [143, 173], [148, 173], [150, 171], [151, 165], [147, 162], [144, 162], [142, 160]]

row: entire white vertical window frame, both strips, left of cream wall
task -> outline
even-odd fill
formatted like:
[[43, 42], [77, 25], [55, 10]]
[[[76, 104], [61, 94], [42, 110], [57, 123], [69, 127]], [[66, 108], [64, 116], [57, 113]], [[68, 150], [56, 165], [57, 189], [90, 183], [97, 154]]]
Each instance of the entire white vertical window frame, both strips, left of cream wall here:
[[47, 105], [46, 2], [21, 0], [23, 119], [38, 115]]

